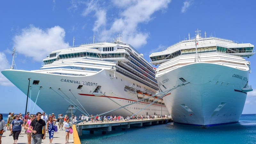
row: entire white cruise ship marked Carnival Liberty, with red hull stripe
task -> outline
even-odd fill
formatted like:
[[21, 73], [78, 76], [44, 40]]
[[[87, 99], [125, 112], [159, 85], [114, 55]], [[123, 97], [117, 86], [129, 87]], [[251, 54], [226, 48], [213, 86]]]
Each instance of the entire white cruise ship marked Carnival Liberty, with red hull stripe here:
[[[143, 54], [120, 37], [113, 42], [93, 42], [53, 51], [43, 62], [38, 70], [8, 69], [2, 74], [48, 114], [71, 113], [72, 109], [75, 115], [97, 115], [152, 96], [159, 90], [155, 69]], [[107, 114], [131, 116], [156, 99], [151, 97]], [[161, 114], [169, 115], [163, 99], [138, 113]]]

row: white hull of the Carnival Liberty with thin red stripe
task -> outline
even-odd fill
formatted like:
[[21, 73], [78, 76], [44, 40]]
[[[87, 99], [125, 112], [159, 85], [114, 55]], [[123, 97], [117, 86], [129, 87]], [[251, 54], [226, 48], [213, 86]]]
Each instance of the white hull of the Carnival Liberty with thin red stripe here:
[[[3, 75], [7, 77], [15, 86], [17, 86], [23, 93], [27, 95], [28, 92], [28, 78], [31, 78], [30, 86], [31, 86], [31, 99], [35, 102], [37, 94], [40, 89], [38, 99], [36, 104], [42, 108], [46, 113], [70, 113], [70, 106], [77, 105], [82, 110], [84, 110], [77, 100], [83, 105], [85, 110], [89, 114], [100, 114], [103, 112], [110, 111], [115, 108], [119, 108], [121, 106], [130, 104], [132, 101], [137, 101], [137, 94], [133, 94], [131, 92], [125, 92], [124, 86], [131, 85], [134, 83], [134, 80], [128, 78], [118, 72], [116, 72], [116, 78], [112, 78], [109, 74], [113, 75], [111, 70], [101, 70], [100, 72], [91, 75], [91, 76], [67, 76], [67, 75], [58, 75], [58, 74], [49, 74], [49, 73], [40, 73], [40, 72], [31, 72], [24, 70], [4, 70], [2, 71]], [[122, 81], [121, 81], [122, 79]], [[33, 80], [39, 80], [39, 84], [32, 84]], [[66, 81], [65, 81], [66, 80]], [[72, 80], [70, 83], [67, 80]], [[90, 82], [90, 83], [88, 83]], [[77, 89], [78, 85], [83, 85], [82, 89]], [[96, 86], [101, 86], [100, 91], [106, 95], [94, 96], [92, 93], [95, 90]], [[56, 92], [54, 92], [52, 89]], [[68, 97], [63, 94], [64, 92]], [[144, 89], [144, 87], [141, 88]], [[71, 92], [75, 95], [75, 97], [71, 94]], [[60, 96], [60, 95], [61, 96]], [[30, 96], [30, 90], [29, 90]], [[63, 97], [63, 98], [62, 98]], [[65, 100], [65, 99], [66, 100]], [[74, 103], [69, 100], [71, 99]], [[110, 100], [111, 99], [111, 100]], [[72, 104], [70, 104], [69, 102]], [[113, 101], [115, 102], [113, 102]], [[149, 104], [148, 102], [140, 102], [139, 104], [133, 104], [131, 106], [126, 107], [132, 113], [136, 113], [140, 108], [146, 107]], [[69, 108], [69, 110], [68, 110]], [[153, 104], [148, 107], [147, 110], [141, 111], [139, 115], [169, 115], [167, 109], [163, 105]], [[122, 116], [131, 116], [132, 113], [122, 108], [108, 114], [122, 115]], [[36, 113], [30, 112], [30, 113]], [[73, 113], [75, 115], [82, 114], [77, 108], [73, 107]]]

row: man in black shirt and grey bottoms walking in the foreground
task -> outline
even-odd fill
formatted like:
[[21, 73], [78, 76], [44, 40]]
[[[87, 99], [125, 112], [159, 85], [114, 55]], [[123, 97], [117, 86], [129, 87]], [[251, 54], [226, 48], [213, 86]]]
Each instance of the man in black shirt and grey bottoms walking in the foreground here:
[[36, 113], [36, 118], [30, 123], [29, 131], [32, 132], [31, 144], [42, 143], [42, 129], [44, 130], [43, 139], [45, 139], [45, 121], [41, 119], [42, 114]]

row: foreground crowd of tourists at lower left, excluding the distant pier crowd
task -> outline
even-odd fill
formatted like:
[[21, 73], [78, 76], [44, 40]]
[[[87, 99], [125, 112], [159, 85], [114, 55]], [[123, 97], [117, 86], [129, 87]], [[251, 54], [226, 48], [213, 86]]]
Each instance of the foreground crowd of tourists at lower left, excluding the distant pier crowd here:
[[14, 115], [12, 112], [9, 113], [7, 117], [7, 124], [5, 124], [3, 115], [0, 114], [0, 144], [2, 144], [2, 135], [6, 131], [10, 131], [9, 136], [13, 137], [13, 144], [17, 144], [22, 127], [24, 132], [27, 134], [28, 144], [41, 144], [42, 139], [45, 139], [46, 132], [49, 133], [49, 140], [50, 143], [52, 143], [54, 132], [58, 130], [55, 125], [56, 121], [59, 122], [59, 130], [60, 128], [63, 130], [64, 125], [66, 131], [65, 143], [68, 143], [69, 131], [70, 129], [72, 130], [68, 115], [62, 116], [62, 114], [59, 114], [58, 117], [56, 117], [54, 113], [48, 116], [45, 115], [45, 112], [38, 112], [36, 115], [29, 114], [28, 112], [23, 117], [21, 113]]

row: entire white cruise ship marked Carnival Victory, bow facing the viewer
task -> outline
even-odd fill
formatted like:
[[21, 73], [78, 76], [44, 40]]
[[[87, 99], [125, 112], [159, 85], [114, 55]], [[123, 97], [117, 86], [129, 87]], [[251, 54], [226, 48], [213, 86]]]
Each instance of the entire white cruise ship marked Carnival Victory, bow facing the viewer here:
[[160, 91], [186, 84], [163, 97], [174, 122], [213, 126], [238, 122], [251, 73], [250, 62], [255, 50], [249, 43], [202, 37], [180, 41], [162, 52], [150, 55], [156, 68]]

